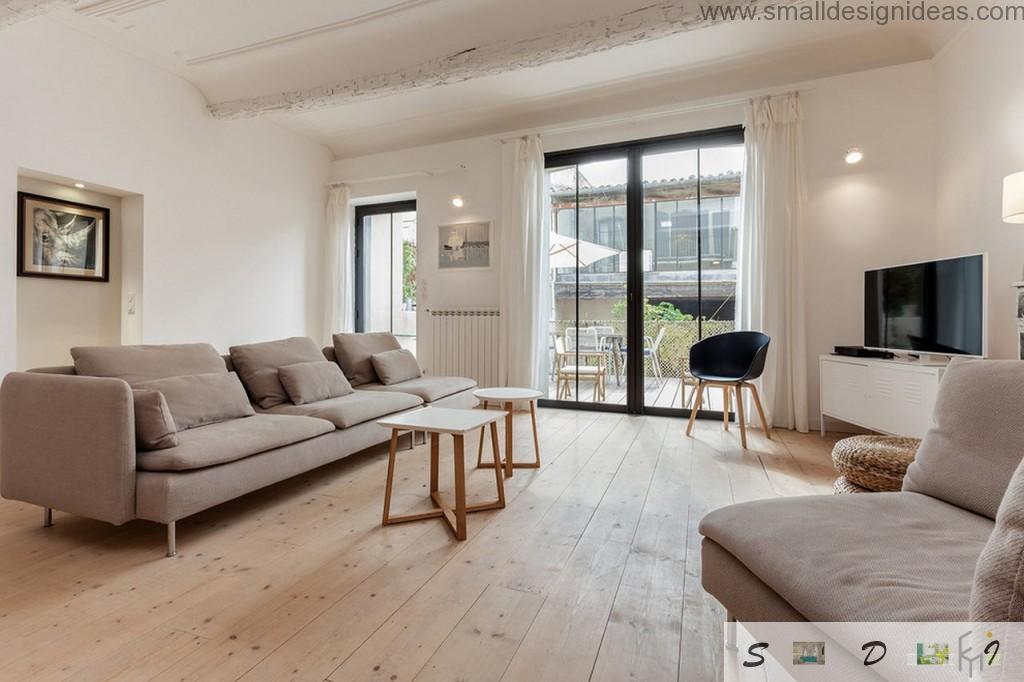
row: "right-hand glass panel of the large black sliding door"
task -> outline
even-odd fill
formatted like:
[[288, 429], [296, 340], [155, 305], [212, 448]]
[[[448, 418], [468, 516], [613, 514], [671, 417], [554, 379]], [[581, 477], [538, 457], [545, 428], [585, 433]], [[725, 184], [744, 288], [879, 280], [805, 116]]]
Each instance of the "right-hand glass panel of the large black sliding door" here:
[[[643, 155], [644, 406], [686, 408], [689, 349], [735, 327], [742, 144]], [[723, 409], [722, 391], [705, 404]]]

